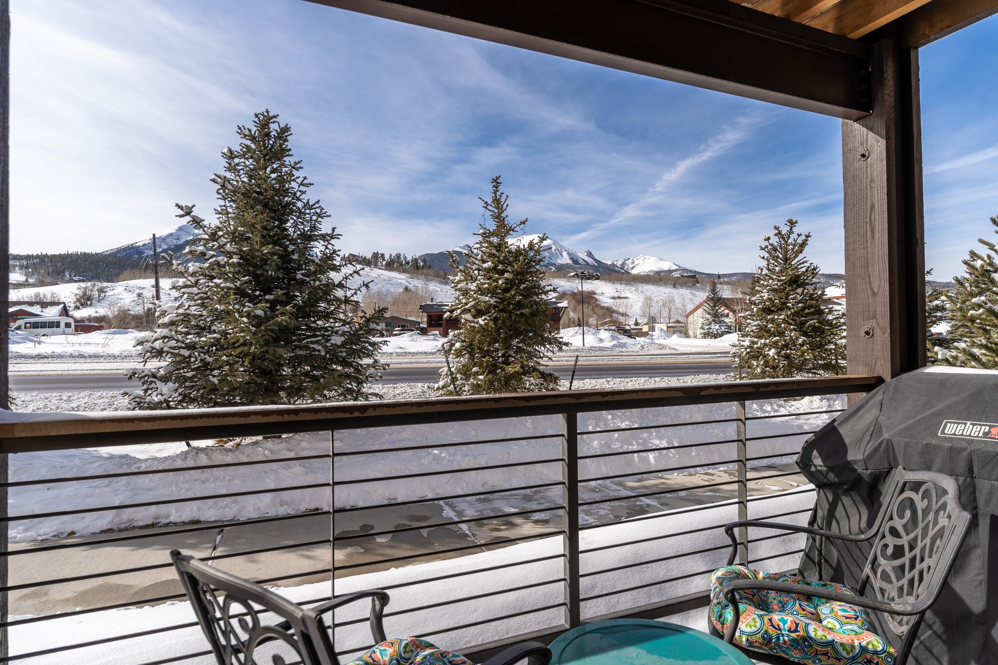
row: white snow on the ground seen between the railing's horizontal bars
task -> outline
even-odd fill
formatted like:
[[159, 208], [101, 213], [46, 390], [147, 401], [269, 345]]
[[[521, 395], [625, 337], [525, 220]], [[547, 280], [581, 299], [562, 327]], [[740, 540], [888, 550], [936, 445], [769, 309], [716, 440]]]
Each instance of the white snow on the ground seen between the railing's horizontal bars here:
[[[749, 414], [782, 414], [809, 412], [841, 407], [841, 398], [806, 398], [795, 401], [767, 401], [749, 403]], [[580, 453], [613, 452], [620, 455], [609, 458], [584, 460], [580, 466], [583, 485], [581, 499], [593, 497], [624, 497], [634, 492], [633, 484], [644, 478], [661, 477], [663, 468], [684, 468], [683, 473], [696, 469], [719, 469], [724, 460], [731, 459], [732, 444], [710, 442], [730, 441], [734, 424], [717, 423], [698, 425], [702, 421], [731, 418], [731, 404], [675, 407], [668, 409], [603, 412], [584, 415], [580, 419]], [[826, 415], [790, 416], [774, 420], [750, 421], [748, 435], [752, 438], [749, 456], [773, 456], [785, 460], [799, 447], [798, 438], [766, 440], [766, 435], [786, 432], [808, 432], [827, 420]], [[613, 432], [586, 434], [622, 427], [672, 425], [666, 429], [638, 432]], [[492, 501], [488, 514], [502, 514], [523, 506], [550, 505], [551, 499], [543, 493], [517, 491], [518, 487], [550, 482], [560, 478], [560, 464], [530, 465], [533, 460], [545, 460], [560, 455], [560, 442], [538, 438], [517, 443], [446, 446], [454, 442], [475, 442], [511, 436], [543, 437], [558, 431], [555, 418], [533, 418], [473, 422], [448, 426], [444, 431], [437, 426], [380, 428], [341, 433], [335, 441], [336, 452], [363, 453], [340, 458], [333, 467], [337, 481], [375, 479], [401, 476], [397, 481], [381, 481], [337, 486], [334, 504], [343, 506], [381, 504], [386, 500], [434, 501], [473, 492], [509, 489], [501, 495], [505, 503]], [[755, 439], [763, 437], [763, 439]], [[195, 465], [213, 465], [235, 461], [279, 460], [290, 456], [307, 456], [328, 451], [328, 435], [296, 435], [283, 439], [249, 441], [239, 448], [212, 446], [210, 442], [194, 442], [194, 448], [179, 445], [135, 446], [116, 449], [89, 449], [59, 453], [32, 453], [11, 456], [12, 481], [54, 477], [93, 476], [115, 472], [183, 468]], [[702, 443], [698, 448], [670, 451], [669, 448], [692, 442]], [[707, 442], [707, 443], [705, 443]], [[428, 449], [416, 447], [430, 445]], [[438, 446], [438, 447], [434, 447]], [[726, 448], [727, 447], [727, 448]], [[412, 451], [397, 451], [413, 448]], [[548, 450], [548, 449], [551, 450]], [[644, 449], [658, 449], [643, 452]], [[379, 452], [391, 449], [394, 452]], [[558, 449], [558, 450], [555, 450]], [[523, 463], [520, 467], [489, 472], [474, 471], [483, 467], [511, 461]], [[761, 460], [759, 463], [772, 462]], [[305, 462], [287, 461], [267, 465], [269, 473], [260, 474], [256, 467], [227, 467], [197, 471], [161, 474], [152, 477], [104, 478], [70, 484], [41, 484], [15, 487], [9, 490], [11, 511], [14, 514], [85, 508], [108, 505], [127, 498], [129, 501], [148, 501], [153, 505], [130, 509], [115, 509], [84, 513], [75, 518], [55, 516], [40, 519], [18, 520], [11, 524], [15, 539], [53, 537], [69, 529], [93, 532], [120, 529], [176, 520], [239, 519], [260, 515], [286, 514], [307, 509], [328, 509], [329, 493], [326, 490], [307, 490], [290, 493], [270, 493], [252, 498], [212, 499], [172, 503], [185, 496], [201, 493], [228, 493], [240, 490], [286, 487], [307, 483], [328, 483], [327, 460]], [[420, 473], [435, 474], [423, 478], [405, 478], [418, 469]], [[437, 472], [445, 472], [439, 474]], [[621, 481], [590, 481], [606, 475], [624, 475]], [[650, 476], [651, 475], [651, 476]], [[210, 490], [209, 490], [210, 489]], [[808, 488], [799, 491], [762, 497], [749, 504], [749, 516], [782, 513], [806, 509], [811, 495]], [[682, 493], [680, 493], [682, 494]], [[672, 498], [671, 498], [672, 497]], [[686, 593], [702, 591], [707, 586], [709, 571], [724, 562], [726, 538], [720, 526], [736, 518], [737, 506], [730, 499], [719, 495], [711, 507], [692, 512], [676, 508], [670, 497], [648, 498], [657, 503], [657, 512], [641, 518], [623, 518], [616, 515], [613, 503], [596, 511], [587, 511], [583, 524], [592, 526], [582, 531], [582, 549], [600, 548], [583, 554], [582, 572], [596, 573], [583, 578], [584, 597], [591, 598], [583, 604], [584, 615], [596, 616], [648, 602], [680, 597]], [[463, 503], [461, 502], [463, 501]], [[446, 499], [442, 503], [460, 514], [482, 509], [471, 499]], [[595, 508], [594, 508], [595, 509]], [[799, 515], [803, 519], [806, 515]], [[610, 519], [609, 523], [604, 520]], [[704, 530], [706, 529], [706, 530]], [[689, 533], [689, 531], [697, 531]], [[796, 539], [794, 539], [796, 538]], [[376, 538], [370, 538], [374, 541]], [[643, 540], [637, 542], [636, 540]], [[768, 540], [753, 545], [752, 556], [765, 558], [790, 551], [799, 546], [798, 536], [789, 539]], [[631, 544], [626, 544], [631, 543]], [[363, 539], [354, 540], [353, 546], [366, 546]], [[375, 572], [337, 578], [337, 594], [370, 587], [394, 587], [386, 627], [392, 635], [419, 634], [436, 641], [445, 648], [461, 649], [492, 639], [527, 632], [544, 626], [559, 625], [562, 608], [539, 609], [536, 612], [509, 619], [508, 614], [544, 608], [562, 602], [564, 588], [560, 581], [563, 561], [560, 553], [563, 540], [560, 536], [521, 542], [457, 558], [435, 560], [406, 567], [389, 568]], [[705, 549], [709, 551], [704, 551]], [[338, 549], [337, 549], [338, 552]], [[545, 560], [535, 559], [552, 556]], [[668, 557], [663, 560], [664, 557]], [[794, 564], [795, 555], [767, 558], [768, 569], [784, 569]], [[229, 563], [230, 565], [232, 563]], [[513, 564], [513, 567], [490, 569], [494, 566]], [[612, 570], [617, 566], [630, 566]], [[226, 560], [218, 565], [225, 569]], [[599, 572], [606, 571], [606, 572]], [[58, 577], [69, 571], [52, 570]], [[74, 571], [79, 572], [79, 571]], [[433, 580], [436, 581], [433, 581]], [[512, 581], [515, 579], [515, 582]], [[669, 580], [669, 581], [659, 581]], [[407, 584], [406, 586], [397, 586]], [[640, 588], [633, 588], [640, 587]], [[469, 590], [473, 589], [474, 593]], [[625, 591], [626, 589], [630, 589]], [[468, 595], [498, 592], [498, 595], [479, 600], [459, 600]], [[328, 582], [280, 589], [284, 595], [304, 601], [326, 596]], [[418, 609], [423, 605], [449, 599], [453, 603], [433, 608]], [[412, 609], [398, 614], [400, 610]], [[359, 606], [344, 608], [337, 613], [337, 623], [361, 618], [364, 609]], [[17, 619], [20, 617], [10, 617]], [[140, 632], [188, 622], [192, 619], [190, 607], [185, 602], [170, 602], [150, 607], [125, 607], [117, 610], [67, 616], [38, 623], [14, 626], [10, 630], [12, 654], [28, 650], [75, 644], [124, 632]], [[692, 621], [701, 621], [696, 616]], [[457, 624], [478, 622], [478, 625], [461, 630], [446, 630]], [[703, 627], [701, 623], [700, 627]], [[361, 647], [368, 640], [364, 623], [351, 623], [337, 627], [337, 648]], [[94, 646], [73, 654], [74, 662], [100, 662], [109, 665], [135, 663], [167, 658], [171, 655], [191, 653], [204, 649], [203, 637], [197, 627], [180, 629], [162, 635], [144, 636], [126, 642], [111, 642]], [[66, 655], [53, 654], [32, 659], [32, 663], [62, 663]], [[191, 661], [191, 662], [210, 662]]]

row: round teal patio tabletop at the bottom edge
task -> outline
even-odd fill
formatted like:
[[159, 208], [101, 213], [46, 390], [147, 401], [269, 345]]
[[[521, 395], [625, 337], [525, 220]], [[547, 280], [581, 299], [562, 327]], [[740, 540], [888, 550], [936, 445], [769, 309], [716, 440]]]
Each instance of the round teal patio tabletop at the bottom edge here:
[[731, 644], [693, 628], [611, 619], [573, 628], [551, 643], [551, 665], [752, 665]]

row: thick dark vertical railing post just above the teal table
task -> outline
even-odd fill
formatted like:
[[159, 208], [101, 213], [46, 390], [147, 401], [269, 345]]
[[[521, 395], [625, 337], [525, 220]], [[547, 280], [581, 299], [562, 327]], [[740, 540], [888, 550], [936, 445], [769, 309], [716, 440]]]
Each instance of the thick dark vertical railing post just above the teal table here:
[[562, 503], [565, 506], [565, 625], [582, 624], [579, 592], [579, 415], [562, 414]]

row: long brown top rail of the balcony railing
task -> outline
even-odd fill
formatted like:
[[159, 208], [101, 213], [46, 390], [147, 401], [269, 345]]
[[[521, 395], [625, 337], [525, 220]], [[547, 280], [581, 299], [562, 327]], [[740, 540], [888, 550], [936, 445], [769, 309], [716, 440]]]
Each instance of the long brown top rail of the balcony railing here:
[[876, 376], [692, 383], [487, 397], [104, 413], [3, 413], [0, 453], [165, 443], [467, 420], [589, 413], [746, 400], [863, 393]]

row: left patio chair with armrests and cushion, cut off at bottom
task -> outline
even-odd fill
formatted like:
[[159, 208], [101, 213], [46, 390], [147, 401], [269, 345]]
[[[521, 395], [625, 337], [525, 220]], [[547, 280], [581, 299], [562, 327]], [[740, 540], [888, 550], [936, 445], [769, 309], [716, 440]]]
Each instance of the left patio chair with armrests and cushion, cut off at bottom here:
[[[302, 665], [339, 665], [322, 614], [356, 600], [371, 599], [370, 629], [376, 643], [359, 659], [361, 665], [473, 665], [456, 653], [442, 651], [415, 637], [385, 638], [381, 617], [388, 594], [378, 589], [337, 596], [305, 609], [286, 598], [194, 556], [174, 549], [170, 552], [184, 591], [191, 600], [198, 623], [208, 638], [219, 665], [262, 665], [284, 663], [283, 652], [293, 652]], [[264, 624], [261, 615], [275, 614], [283, 621]], [[283, 642], [282, 653], [256, 655], [257, 647]], [[280, 646], [280, 645], [274, 645]], [[265, 659], [265, 660], [264, 660]], [[482, 665], [513, 665], [527, 659], [528, 665], [548, 665], [551, 651], [539, 642], [515, 644], [486, 660]]]

